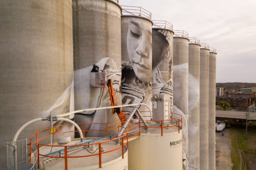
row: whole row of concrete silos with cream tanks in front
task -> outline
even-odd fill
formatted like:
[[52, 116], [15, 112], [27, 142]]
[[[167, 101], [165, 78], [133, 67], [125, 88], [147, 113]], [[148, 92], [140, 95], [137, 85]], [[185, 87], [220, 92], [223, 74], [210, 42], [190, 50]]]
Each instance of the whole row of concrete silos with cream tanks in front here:
[[216, 49], [115, 0], [0, 10], [1, 167], [215, 169]]

